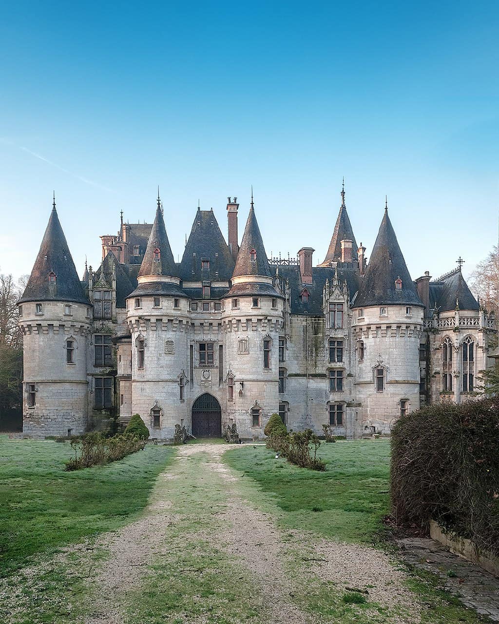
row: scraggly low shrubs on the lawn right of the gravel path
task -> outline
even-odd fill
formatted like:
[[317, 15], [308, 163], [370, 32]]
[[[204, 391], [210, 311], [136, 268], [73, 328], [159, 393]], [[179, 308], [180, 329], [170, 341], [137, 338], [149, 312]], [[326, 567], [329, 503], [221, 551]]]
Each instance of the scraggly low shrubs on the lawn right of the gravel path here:
[[[279, 414], [274, 414], [273, 416], [277, 416], [279, 421], [281, 421]], [[279, 456], [286, 457], [291, 464], [296, 464], [296, 466], [301, 468], [325, 470], [326, 464], [320, 457], [317, 457], [321, 441], [316, 434], [311, 429], [290, 431], [288, 433], [286, 427], [283, 427], [284, 424], [281, 421], [281, 426], [276, 423], [270, 429], [270, 434], [266, 441], [267, 448], [273, 449]]]

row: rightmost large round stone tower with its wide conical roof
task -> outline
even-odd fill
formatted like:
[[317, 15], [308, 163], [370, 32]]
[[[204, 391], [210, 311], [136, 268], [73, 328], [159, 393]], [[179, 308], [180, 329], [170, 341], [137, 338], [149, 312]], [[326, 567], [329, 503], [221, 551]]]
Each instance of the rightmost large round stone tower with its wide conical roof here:
[[419, 345], [424, 304], [405, 265], [388, 216], [381, 222], [353, 305], [356, 434], [389, 434], [401, 415], [419, 408]]

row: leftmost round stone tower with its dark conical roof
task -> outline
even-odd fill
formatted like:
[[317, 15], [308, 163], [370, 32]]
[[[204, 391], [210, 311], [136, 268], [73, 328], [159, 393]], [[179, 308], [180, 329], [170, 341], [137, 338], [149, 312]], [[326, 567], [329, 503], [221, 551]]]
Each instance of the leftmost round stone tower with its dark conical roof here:
[[34, 437], [83, 433], [90, 302], [62, 232], [55, 197], [19, 300], [19, 326], [24, 342], [23, 432]]

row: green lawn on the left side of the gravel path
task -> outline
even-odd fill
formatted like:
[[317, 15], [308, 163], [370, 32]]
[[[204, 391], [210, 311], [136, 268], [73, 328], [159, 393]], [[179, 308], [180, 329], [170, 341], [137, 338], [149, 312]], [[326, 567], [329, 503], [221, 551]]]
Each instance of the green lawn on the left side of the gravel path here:
[[130, 521], [175, 451], [148, 445], [107, 466], [65, 472], [72, 452], [67, 443], [0, 436], [0, 576]]

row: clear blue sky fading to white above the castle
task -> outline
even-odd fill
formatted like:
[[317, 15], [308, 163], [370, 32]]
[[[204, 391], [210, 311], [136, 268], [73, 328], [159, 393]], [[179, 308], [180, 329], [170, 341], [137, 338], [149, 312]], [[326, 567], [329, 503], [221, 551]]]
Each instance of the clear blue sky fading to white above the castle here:
[[172, 250], [253, 184], [268, 255], [327, 250], [341, 178], [357, 243], [390, 218], [413, 278], [497, 241], [499, 3], [4, 2], [0, 271], [29, 273], [56, 190], [80, 275], [102, 234]]

